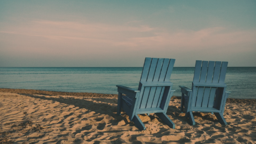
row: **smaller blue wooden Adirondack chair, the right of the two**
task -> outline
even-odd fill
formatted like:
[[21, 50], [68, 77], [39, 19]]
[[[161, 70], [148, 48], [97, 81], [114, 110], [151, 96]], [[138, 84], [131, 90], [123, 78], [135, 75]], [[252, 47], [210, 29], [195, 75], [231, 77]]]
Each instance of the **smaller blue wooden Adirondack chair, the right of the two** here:
[[181, 112], [183, 107], [186, 117], [192, 125], [195, 119], [192, 112], [214, 113], [222, 125], [227, 125], [223, 117], [226, 99], [229, 91], [224, 83], [228, 62], [221, 61], [196, 61], [192, 89], [179, 86], [182, 92]]

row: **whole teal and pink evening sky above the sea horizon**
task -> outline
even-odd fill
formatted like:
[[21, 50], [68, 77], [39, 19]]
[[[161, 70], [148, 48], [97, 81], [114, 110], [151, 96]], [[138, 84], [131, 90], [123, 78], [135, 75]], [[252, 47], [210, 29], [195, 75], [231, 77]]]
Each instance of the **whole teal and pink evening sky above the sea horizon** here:
[[1, 0], [0, 67], [256, 66], [256, 0]]

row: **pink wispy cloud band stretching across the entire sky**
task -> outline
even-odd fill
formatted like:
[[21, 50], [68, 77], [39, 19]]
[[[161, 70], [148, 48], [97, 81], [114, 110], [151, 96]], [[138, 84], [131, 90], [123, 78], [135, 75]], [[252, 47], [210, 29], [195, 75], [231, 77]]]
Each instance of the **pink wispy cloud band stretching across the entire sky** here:
[[108, 43], [113, 46], [172, 46], [207, 47], [237, 43], [255, 43], [256, 31], [228, 31], [224, 27], [213, 27], [199, 31], [166, 29], [148, 25], [109, 25], [88, 22], [60, 22], [33, 20], [22, 26], [6, 26], [1, 33], [44, 37], [59, 41], [84, 41]]

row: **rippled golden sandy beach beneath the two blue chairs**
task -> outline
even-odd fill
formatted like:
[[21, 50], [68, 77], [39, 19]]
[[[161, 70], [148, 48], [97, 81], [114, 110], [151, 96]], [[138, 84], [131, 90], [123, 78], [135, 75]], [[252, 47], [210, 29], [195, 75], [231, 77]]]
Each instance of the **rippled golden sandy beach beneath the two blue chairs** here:
[[167, 115], [175, 129], [155, 114], [140, 115], [140, 131], [122, 112], [116, 115], [117, 95], [0, 89], [0, 144], [150, 144], [256, 143], [256, 100], [228, 99], [221, 125], [211, 113], [194, 113], [196, 125], [180, 113], [173, 97]]

